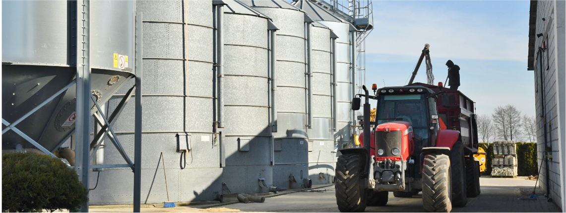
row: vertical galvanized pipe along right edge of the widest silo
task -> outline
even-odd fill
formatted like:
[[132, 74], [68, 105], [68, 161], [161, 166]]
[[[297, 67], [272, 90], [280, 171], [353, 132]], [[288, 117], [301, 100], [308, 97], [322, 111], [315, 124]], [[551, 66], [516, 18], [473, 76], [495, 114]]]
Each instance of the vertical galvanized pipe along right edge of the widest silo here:
[[216, 45], [218, 128], [224, 128], [224, 33], [222, 32], [224, 25], [224, 5], [224, 2], [216, 5], [216, 38], [218, 40]]

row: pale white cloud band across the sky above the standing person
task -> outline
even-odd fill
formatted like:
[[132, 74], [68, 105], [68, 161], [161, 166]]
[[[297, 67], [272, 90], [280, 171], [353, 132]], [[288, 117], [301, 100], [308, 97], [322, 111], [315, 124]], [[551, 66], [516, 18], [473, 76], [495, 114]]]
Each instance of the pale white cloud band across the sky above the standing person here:
[[528, 23], [525, 33], [517, 34], [516, 28], [501, 27], [498, 20], [480, 13], [427, 9], [404, 1], [378, 10], [374, 6], [375, 28], [366, 38], [367, 53], [419, 56], [424, 44], [430, 44], [434, 57], [526, 61]]

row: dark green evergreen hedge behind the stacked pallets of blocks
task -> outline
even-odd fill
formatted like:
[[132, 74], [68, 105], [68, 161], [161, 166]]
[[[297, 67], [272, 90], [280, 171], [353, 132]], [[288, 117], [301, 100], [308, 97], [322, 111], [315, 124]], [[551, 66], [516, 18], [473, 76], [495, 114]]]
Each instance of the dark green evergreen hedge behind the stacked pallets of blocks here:
[[[537, 143], [517, 142], [517, 174], [518, 176], [537, 176]], [[486, 170], [482, 175], [491, 175], [491, 161], [494, 158], [493, 143], [479, 143], [486, 151]]]

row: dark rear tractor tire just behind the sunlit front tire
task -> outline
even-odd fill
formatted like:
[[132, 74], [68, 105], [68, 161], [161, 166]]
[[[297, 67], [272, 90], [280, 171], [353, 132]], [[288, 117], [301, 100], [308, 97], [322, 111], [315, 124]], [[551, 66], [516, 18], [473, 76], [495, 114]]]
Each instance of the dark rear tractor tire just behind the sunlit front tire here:
[[452, 167], [452, 206], [464, 207], [468, 204], [466, 189], [466, 165], [464, 146], [461, 141], [454, 143], [451, 149], [450, 165]]

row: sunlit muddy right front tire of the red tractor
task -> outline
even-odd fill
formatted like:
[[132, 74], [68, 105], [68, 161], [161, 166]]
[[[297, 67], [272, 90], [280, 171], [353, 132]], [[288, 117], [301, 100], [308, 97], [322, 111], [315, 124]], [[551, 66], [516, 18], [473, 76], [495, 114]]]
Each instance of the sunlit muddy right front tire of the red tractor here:
[[423, 207], [428, 212], [452, 211], [450, 157], [428, 154], [423, 161]]

